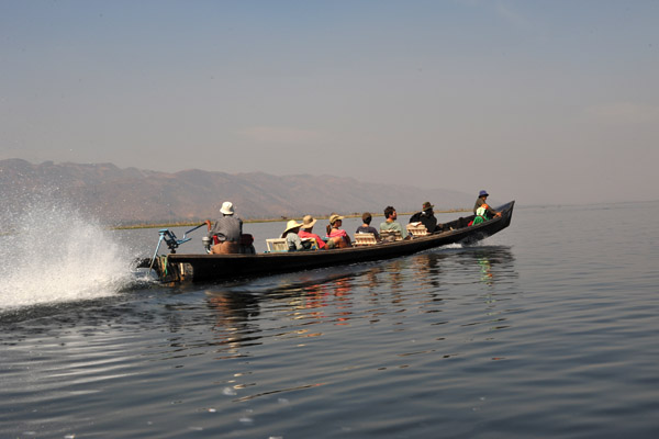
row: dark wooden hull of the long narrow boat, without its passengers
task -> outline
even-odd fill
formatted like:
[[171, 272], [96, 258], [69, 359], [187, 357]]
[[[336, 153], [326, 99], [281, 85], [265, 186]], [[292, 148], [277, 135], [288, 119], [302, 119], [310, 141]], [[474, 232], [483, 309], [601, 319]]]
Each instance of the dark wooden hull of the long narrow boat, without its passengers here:
[[[472, 245], [511, 224], [515, 202], [499, 207], [501, 216], [468, 226], [473, 215], [442, 224], [434, 234], [393, 243], [332, 250], [266, 252], [256, 255], [169, 254], [143, 260], [138, 267], [153, 267], [163, 282], [215, 281], [334, 267], [390, 259], [449, 244]], [[155, 262], [155, 263], [154, 263]]]

